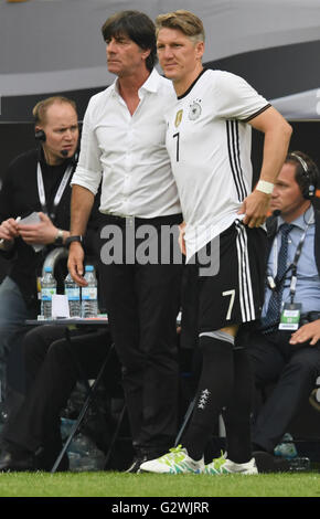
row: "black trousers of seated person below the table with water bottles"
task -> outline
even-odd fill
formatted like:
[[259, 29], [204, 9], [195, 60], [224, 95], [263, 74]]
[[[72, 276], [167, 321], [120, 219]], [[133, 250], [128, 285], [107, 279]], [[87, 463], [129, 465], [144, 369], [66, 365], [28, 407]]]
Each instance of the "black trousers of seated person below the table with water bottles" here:
[[[3, 438], [32, 452], [43, 447], [49, 459], [44, 468], [52, 468], [62, 448], [60, 412], [77, 380], [83, 375], [96, 377], [109, 346], [110, 335], [106, 329], [73, 330], [71, 341], [66, 340], [62, 326], [42, 326], [29, 331], [23, 341], [26, 394], [19, 409], [12, 410]], [[110, 378], [114, 377], [111, 371]]]

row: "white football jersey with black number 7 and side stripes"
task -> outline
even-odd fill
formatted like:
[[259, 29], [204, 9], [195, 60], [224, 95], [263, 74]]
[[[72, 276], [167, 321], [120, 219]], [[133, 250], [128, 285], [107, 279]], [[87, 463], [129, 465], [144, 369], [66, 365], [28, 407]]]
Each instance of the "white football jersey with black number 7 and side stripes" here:
[[253, 179], [247, 121], [269, 106], [242, 77], [204, 70], [167, 114], [186, 261], [239, 218]]

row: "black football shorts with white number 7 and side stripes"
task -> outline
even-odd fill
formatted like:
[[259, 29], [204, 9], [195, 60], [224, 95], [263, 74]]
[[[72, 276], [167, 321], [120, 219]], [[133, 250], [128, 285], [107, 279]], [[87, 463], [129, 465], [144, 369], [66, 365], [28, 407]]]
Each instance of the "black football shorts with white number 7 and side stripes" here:
[[[199, 332], [259, 318], [265, 295], [266, 232], [236, 220], [196, 254]], [[204, 266], [212, 257], [212, 265]]]

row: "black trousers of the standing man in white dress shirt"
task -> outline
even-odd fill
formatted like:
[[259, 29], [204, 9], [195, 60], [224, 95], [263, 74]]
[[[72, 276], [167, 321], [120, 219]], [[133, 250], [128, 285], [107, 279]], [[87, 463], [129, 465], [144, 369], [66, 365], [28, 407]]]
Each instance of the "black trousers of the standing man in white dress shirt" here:
[[[170, 248], [168, 240], [166, 243], [161, 240], [161, 231], [163, 225], [167, 231], [174, 224], [178, 229], [181, 215], [132, 220], [106, 216], [102, 235], [109, 236], [116, 227], [114, 232], [120, 236], [116, 246], [121, 247], [122, 254], [110, 262], [106, 253], [110, 242], [102, 239], [100, 284], [122, 366], [134, 447], [166, 452], [173, 445], [178, 422], [177, 315], [182, 263], [174, 263], [172, 251], [167, 255], [170, 261], [161, 262], [163, 247]], [[141, 254], [143, 240], [138, 237], [146, 224], [149, 237], [152, 230], [148, 251], [149, 258], [152, 256], [150, 262], [145, 262]], [[171, 239], [171, 245], [177, 247], [177, 233]]]

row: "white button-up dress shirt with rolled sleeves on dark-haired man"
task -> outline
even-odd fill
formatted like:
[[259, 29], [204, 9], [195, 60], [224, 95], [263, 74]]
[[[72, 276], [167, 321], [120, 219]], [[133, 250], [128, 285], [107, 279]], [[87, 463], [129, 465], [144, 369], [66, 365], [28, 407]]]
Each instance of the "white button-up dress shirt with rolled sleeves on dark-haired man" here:
[[89, 100], [72, 184], [96, 194], [102, 213], [156, 218], [181, 212], [166, 148], [164, 112], [174, 104], [172, 83], [152, 71], [131, 116], [117, 80]]

